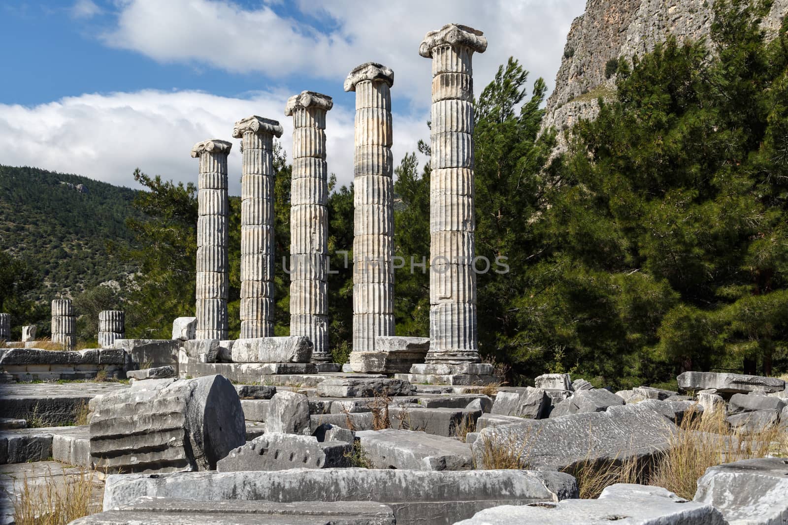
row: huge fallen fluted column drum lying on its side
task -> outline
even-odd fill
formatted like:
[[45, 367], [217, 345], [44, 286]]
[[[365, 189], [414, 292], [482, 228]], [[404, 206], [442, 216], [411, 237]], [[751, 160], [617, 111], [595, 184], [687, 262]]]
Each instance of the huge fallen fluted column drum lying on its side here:
[[194, 471], [246, 442], [238, 394], [221, 375], [151, 379], [91, 400], [91, 457], [108, 471]]

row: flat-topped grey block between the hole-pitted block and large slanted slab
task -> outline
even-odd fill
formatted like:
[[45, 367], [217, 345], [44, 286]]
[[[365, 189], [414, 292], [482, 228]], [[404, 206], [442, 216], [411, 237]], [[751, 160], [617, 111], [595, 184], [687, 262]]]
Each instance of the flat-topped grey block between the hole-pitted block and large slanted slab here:
[[470, 446], [452, 438], [391, 428], [360, 431], [355, 435], [373, 468], [417, 471], [461, 471], [474, 468]]

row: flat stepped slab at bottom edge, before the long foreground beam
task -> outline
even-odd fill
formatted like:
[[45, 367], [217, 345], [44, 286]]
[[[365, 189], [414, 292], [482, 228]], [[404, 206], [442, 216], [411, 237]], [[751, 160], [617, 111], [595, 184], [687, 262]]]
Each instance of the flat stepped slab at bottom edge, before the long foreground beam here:
[[272, 503], [140, 497], [130, 505], [71, 525], [394, 525], [394, 512], [374, 501]]

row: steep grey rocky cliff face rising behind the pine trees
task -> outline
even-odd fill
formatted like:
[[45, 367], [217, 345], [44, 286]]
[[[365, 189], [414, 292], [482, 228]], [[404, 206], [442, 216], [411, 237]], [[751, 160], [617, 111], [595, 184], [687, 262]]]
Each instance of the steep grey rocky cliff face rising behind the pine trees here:
[[[563, 131], [580, 118], [594, 118], [597, 99], [615, 97], [615, 74], [608, 61], [641, 56], [675, 35], [679, 40], [708, 35], [713, 0], [588, 0], [574, 19], [558, 75], [547, 101], [542, 128]], [[764, 29], [775, 34], [788, 0], [775, 0]], [[606, 71], [608, 69], [608, 71]], [[563, 133], [559, 146], [565, 148]]]

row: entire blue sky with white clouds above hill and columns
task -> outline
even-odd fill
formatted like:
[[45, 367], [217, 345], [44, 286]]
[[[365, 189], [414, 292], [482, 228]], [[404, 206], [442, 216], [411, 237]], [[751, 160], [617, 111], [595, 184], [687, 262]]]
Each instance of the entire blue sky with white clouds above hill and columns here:
[[[292, 127], [284, 101], [302, 90], [333, 96], [329, 170], [352, 178], [354, 94], [344, 77], [379, 61], [395, 72], [396, 158], [427, 139], [426, 31], [447, 22], [485, 31], [474, 57], [477, 94], [514, 55], [552, 89], [571, 20], [584, 0], [284, 2], [251, 0], [5, 0], [0, 46], [0, 164], [35, 165], [133, 185], [142, 168], [195, 178], [194, 142], [230, 139], [258, 114]], [[240, 155], [230, 169], [240, 173]], [[237, 178], [237, 177], [236, 177]], [[232, 176], [231, 176], [231, 179]], [[238, 183], [231, 192], [238, 193]]]

